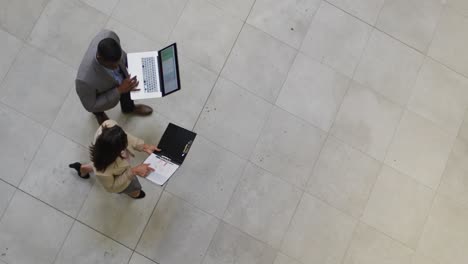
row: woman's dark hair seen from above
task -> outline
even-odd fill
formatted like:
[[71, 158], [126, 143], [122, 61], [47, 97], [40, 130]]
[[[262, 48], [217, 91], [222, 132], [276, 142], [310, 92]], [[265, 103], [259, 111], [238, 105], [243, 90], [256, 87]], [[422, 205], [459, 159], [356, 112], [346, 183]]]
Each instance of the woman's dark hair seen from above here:
[[119, 126], [103, 127], [101, 135], [89, 147], [91, 161], [98, 171], [105, 171], [127, 148], [127, 134]]

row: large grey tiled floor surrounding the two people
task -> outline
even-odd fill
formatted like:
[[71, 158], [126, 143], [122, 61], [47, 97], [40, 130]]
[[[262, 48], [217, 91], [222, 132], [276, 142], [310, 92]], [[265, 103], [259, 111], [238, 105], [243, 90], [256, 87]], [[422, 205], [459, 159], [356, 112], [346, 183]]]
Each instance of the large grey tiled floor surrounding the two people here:
[[[468, 263], [467, 3], [0, 0], [0, 263]], [[139, 201], [67, 168], [102, 28], [180, 47], [182, 91], [108, 112], [154, 143], [198, 133]]]

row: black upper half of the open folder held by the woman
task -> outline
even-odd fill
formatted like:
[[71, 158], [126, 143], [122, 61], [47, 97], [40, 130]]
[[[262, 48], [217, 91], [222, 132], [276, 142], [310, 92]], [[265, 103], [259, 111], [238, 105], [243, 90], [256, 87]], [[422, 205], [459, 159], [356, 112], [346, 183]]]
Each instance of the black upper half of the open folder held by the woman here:
[[196, 136], [197, 134], [190, 130], [169, 123], [158, 144], [161, 152], [155, 154], [168, 157], [173, 163], [181, 165]]

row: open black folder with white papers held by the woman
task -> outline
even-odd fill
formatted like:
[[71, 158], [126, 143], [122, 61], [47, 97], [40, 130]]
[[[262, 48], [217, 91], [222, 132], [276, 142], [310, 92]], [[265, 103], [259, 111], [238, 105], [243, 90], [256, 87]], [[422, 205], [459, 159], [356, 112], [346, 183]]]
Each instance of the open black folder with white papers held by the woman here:
[[196, 136], [192, 131], [169, 123], [158, 144], [161, 151], [152, 153], [144, 161], [154, 169], [146, 179], [158, 185], [166, 183], [184, 162]]

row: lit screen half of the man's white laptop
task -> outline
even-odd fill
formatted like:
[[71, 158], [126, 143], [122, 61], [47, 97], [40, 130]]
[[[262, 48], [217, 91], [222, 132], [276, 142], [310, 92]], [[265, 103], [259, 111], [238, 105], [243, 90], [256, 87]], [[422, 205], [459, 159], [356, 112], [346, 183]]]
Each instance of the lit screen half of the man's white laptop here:
[[158, 51], [158, 63], [162, 96], [180, 90], [179, 60], [176, 43]]

